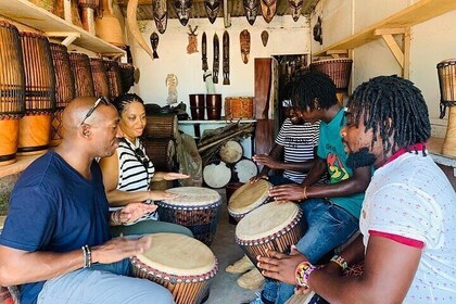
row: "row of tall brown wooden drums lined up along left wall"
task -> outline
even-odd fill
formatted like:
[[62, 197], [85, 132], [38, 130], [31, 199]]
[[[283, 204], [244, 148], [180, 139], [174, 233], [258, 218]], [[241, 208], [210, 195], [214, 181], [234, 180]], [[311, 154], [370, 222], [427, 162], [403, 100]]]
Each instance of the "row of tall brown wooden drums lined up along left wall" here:
[[134, 85], [135, 67], [68, 53], [38, 33], [0, 21], [0, 165], [38, 154], [62, 138], [62, 112], [77, 97], [115, 98]]

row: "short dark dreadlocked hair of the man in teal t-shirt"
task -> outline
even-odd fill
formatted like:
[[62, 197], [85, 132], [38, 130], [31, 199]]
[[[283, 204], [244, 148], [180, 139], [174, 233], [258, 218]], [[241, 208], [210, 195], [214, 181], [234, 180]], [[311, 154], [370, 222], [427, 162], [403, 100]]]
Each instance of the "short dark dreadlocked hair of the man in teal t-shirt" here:
[[328, 75], [309, 71], [296, 77], [291, 91], [291, 101], [294, 106], [312, 110], [315, 107], [315, 100], [321, 109], [329, 109], [338, 103], [335, 85]]

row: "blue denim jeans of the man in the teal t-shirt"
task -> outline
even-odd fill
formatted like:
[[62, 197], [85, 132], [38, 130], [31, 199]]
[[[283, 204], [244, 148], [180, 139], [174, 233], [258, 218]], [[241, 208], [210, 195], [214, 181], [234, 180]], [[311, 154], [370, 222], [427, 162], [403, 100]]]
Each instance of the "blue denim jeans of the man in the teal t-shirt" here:
[[[358, 219], [344, 208], [325, 199], [308, 199], [300, 203], [305, 233], [296, 244], [312, 264], [334, 248], [345, 243], [358, 230]], [[266, 280], [262, 292], [264, 303], [283, 304], [294, 293], [294, 286]]]

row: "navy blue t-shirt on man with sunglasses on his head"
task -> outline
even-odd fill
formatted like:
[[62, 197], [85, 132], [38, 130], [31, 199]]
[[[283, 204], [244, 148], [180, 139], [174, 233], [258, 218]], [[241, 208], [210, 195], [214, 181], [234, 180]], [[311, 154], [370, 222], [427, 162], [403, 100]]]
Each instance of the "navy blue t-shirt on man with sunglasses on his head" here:
[[[68, 252], [111, 239], [109, 203], [97, 162], [90, 172], [88, 180], [55, 152], [30, 164], [14, 187], [0, 244], [28, 252]], [[36, 303], [43, 283], [23, 284], [21, 303]]]

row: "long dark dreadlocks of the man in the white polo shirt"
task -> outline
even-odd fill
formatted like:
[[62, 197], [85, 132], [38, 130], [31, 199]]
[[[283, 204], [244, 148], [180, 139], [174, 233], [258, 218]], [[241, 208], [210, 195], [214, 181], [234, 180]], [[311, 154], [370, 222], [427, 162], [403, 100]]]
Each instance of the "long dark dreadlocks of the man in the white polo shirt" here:
[[[353, 122], [359, 124], [364, 114], [366, 129], [372, 128], [371, 145], [377, 132], [380, 132], [383, 153], [390, 150], [394, 153], [402, 148], [417, 152], [414, 144], [430, 137], [428, 106], [421, 91], [411, 81], [396, 75], [378, 76], [362, 84], [350, 98], [347, 106]], [[391, 135], [394, 135], [393, 143], [389, 141]]]

